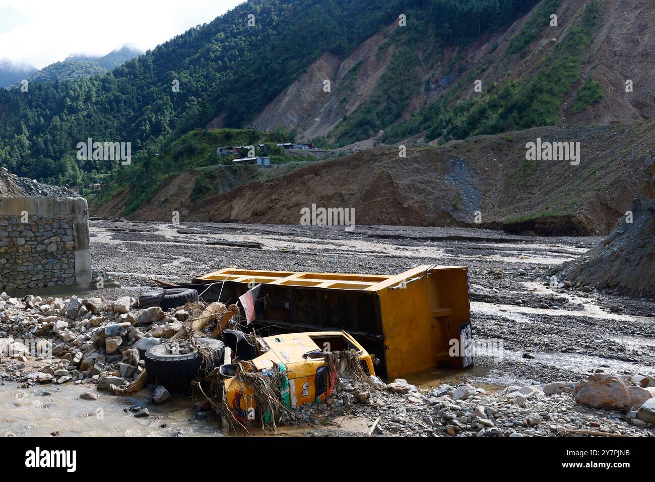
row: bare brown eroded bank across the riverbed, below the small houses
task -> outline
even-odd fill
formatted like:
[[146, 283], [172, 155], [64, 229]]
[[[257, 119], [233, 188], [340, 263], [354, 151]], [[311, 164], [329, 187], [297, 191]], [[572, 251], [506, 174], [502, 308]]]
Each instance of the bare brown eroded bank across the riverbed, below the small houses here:
[[[359, 225], [476, 226], [480, 211], [483, 223], [527, 222], [522, 231], [538, 232], [540, 223], [563, 216], [570, 234], [607, 233], [645, 180], [654, 127], [651, 121], [529, 129], [408, 150], [404, 159], [396, 148], [376, 148], [310, 163], [196, 203], [188, 190], [173, 193], [167, 185], [130, 218], [170, 220], [175, 208], [187, 221], [297, 224], [300, 209], [314, 203], [352, 207]], [[525, 145], [536, 138], [580, 142], [580, 165], [527, 161]]]

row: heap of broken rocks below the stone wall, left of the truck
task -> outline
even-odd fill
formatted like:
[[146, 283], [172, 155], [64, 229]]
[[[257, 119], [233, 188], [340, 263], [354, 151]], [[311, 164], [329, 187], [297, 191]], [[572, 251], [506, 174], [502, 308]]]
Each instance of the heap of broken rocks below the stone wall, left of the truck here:
[[[185, 310], [135, 310], [129, 297], [0, 297], [0, 348], [13, 363], [3, 379], [26, 384], [97, 383], [119, 393], [143, 371], [143, 354], [176, 334]], [[36, 355], [36, 356], [34, 356]], [[44, 358], [54, 357], [54, 363]], [[26, 371], [28, 357], [33, 363]]]

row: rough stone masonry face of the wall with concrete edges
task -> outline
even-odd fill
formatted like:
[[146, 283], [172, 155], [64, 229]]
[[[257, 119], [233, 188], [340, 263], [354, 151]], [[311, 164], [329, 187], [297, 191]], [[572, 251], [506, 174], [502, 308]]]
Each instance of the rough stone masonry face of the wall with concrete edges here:
[[64, 218], [0, 216], [0, 289], [75, 284], [73, 226]]

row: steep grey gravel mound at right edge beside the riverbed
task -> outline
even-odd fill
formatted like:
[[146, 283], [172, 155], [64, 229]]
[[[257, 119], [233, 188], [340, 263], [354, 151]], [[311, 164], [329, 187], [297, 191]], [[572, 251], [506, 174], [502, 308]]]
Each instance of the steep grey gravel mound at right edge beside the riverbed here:
[[645, 171], [648, 180], [627, 214], [599, 246], [565, 270], [565, 277], [633, 296], [655, 295], [655, 157]]

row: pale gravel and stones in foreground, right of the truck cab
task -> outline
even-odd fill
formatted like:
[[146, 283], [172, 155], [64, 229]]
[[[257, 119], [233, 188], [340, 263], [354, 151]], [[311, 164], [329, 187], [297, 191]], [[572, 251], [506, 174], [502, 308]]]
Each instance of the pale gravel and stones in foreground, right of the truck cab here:
[[[594, 375], [589, 378], [593, 379]], [[652, 377], [618, 380], [630, 388], [651, 384]], [[584, 382], [583, 382], [584, 383]], [[655, 436], [655, 398], [641, 407], [601, 411], [586, 407], [574, 394], [574, 382], [509, 386], [487, 392], [470, 384], [442, 384], [421, 391], [397, 379], [366, 405], [352, 404], [352, 414], [379, 417], [376, 433], [422, 437], [534, 437], [596, 435]], [[581, 389], [578, 389], [581, 391]], [[646, 390], [653, 393], [655, 390]], [[595, 389], [593, 390], [595, 391]], [[639, 403], [635, 401], [635, 404]], [[635, 405], [628, 404], [628, 405]]]

